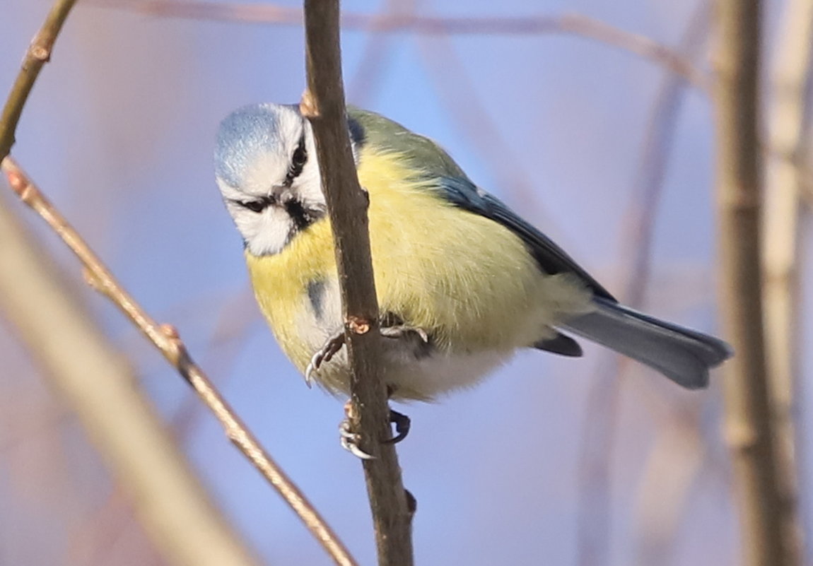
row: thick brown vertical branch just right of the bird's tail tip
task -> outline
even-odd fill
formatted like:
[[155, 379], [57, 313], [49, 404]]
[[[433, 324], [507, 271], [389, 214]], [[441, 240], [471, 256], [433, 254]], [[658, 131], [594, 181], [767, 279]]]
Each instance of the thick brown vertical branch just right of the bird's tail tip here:
[[761, 2], [717, 0], [715, 64], [720, 283], [725, 335], [736, 355], [724, 380], [745, 564], [783, 566], [776, 422], [763, 345], [759, 214]]

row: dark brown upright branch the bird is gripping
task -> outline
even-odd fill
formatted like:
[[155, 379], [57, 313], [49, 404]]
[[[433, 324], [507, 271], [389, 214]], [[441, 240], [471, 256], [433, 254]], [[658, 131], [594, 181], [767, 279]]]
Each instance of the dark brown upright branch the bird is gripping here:
[[380, 378], [378, 302], [367, 231], [367, 194], [359, 187], [347, 131], [341, 80], [338, 0], [305, 0], [308, 89], [302, 114], [311, 120], [336, 258], [351, 368], [350, 419], [361, 434], [364, 473], [379, 564], [412, 564], [414, 500], [403, 488], [390, 437], [387, 392]]

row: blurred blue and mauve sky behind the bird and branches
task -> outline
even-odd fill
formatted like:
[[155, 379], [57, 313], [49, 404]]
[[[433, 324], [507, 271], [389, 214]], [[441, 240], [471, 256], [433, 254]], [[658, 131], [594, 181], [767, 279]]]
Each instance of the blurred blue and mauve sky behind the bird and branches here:
[[[47, 7], [6, 2], [0, 90], [11, 84]], [[348, 1], [343, 9], [376, 13], [385, 2]], [[696, 2], [642, 0], [427, 0], [417, 7], [484, 17], [576, 12], [667, 45], [677, 45], [696, 9]], [[772, 6], [772, 28], [779, 13]], [[646, 127], [668, 71], [568, 34], [398, 32], [379, 42], [346, 31], [342, 41], [349, 102], [433, 137], [472, 179], [623, 296], [632, 253], [624, 234], [640, 190]], [[212, 173], [213, 137], [225, 114], [249, 102], [298, 101], [302, 45], [296, 25], [162, 19], [80, 2], [28, 103], [14, 153], [125, 287], [155, 318], [180, 328], [272, 455], [361, 563], [372, 564], [360, 465], [337, 441], [342, 403], [304, 386], [259, 318], [241, 241]], [[365, 83], [359, 69], [371, 45], [380, 64]], [[706, 56], [698, 66], [708, 68]], [[685, 90], [672, 139], [644, 306], [713, 332], [714, 140], [704, 93]], [[78, 281], [59, 242], [13, 206]], [[329, 564], [215, 421], [200, 408], [189, 411], [198, 403], [184, 382], [105, 300], [81, 295], [137, 362], [141, 385], [167, 421], [187, 416], [179, 435], [189, 457], [267, 564]], [[0, 374], [0, 396], [40, 423], [15, 428], [0, 404], [8, 439], [0, 452], [7, 502], [0, 562], [91, 564], [71, 554], [72, 544], [89, 536], [113, 483], [7, 326], [0, 326], [0, 352], [9, 368]], [[737, 564], [719, 383], [679, 391], [633, 364], [612, 378], [612, 356], [592, 346], [585, 352], [576, 361], [522, 352], [476, 390], [403, 409], [413, 420], [398, 453], [419, 502], [416, 564]], [[585, 438], [592, 439], [587, 448]], [[583, 477], [585, 450], [609, 455], [606, 490]], [[45, 473], [48, 465], [63, 473]], [[668, 499], [674, 493], [676, 505]], [[645, 509], [659, 508], [661, 497], [677, 512], [659, 546]], [[133, 519], [116, 525], [92, 564], [144, 564]], [[589, 555], [585, 536], [599, 541], [597, 555]]]

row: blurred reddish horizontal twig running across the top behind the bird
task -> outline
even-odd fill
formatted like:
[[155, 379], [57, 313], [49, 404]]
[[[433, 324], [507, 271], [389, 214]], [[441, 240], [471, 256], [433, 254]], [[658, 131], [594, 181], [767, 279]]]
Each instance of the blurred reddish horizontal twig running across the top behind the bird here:
[[[276, 4], [239, 4], [198, 0], [93, 0], [100, 6], [173, 18], [218, 19], [250, 24], [302, 24], [302, 11]], [[344, 12], [341, 26], [367, 32], [415, 32], [432, 35], [541, 35], [550, 33], [586, 37], [659, 63], [705, 91], [706, 73], [666, 45], [650, 37], [625, 32], [580, 14], [518, 17], [430, 17], [406, 14], [368, 15]]]

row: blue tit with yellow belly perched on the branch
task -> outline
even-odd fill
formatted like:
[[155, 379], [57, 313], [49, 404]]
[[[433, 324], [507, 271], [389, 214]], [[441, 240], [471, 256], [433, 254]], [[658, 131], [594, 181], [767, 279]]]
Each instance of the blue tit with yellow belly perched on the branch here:
[[[353, 107], [347, 124], [369, 194], [383, 379], [392, 399], [433, 400], [475, 385], [518, 348], [580, 356], [572, 335], [689, 389], [706, 387], [709, 369], [732, 355], [720, 339], [620, 305], [432, 140]], [[259, 307], [305, 372], [343, 329], [310, 123], [298, 106], [235, 111], [220, 124], [215, 174]], [[345, 352], [313, 377], [347, 394]]]

